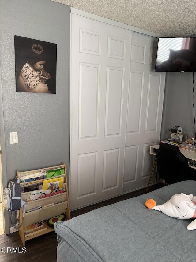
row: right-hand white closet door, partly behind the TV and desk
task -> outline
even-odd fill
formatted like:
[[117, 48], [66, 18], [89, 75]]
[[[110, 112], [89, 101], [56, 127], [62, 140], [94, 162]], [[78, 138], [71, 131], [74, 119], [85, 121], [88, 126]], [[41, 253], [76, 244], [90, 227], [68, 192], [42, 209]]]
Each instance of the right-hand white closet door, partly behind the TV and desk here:
[[148, 184], [150, 146], [160, 142], [165, 73], [154, 72], [157, 44], [157, 38], [132, 34], [123, 192]]

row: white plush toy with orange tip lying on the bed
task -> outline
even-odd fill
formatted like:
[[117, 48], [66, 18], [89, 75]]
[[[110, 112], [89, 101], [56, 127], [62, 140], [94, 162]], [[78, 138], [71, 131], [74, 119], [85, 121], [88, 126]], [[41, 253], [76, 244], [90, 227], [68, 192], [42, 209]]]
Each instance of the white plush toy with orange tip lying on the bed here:
[[196, 229], [196, 196], [193, 196], [192, 194], [175, 194], [163, 205], [156, 205], [156, 202], [153, 199], [147, 199], [145, 206], [149, 209], [161, 211], [169, 217], [178, 219], [194, 218], [194, 220], [187, 226], [187, 229]]

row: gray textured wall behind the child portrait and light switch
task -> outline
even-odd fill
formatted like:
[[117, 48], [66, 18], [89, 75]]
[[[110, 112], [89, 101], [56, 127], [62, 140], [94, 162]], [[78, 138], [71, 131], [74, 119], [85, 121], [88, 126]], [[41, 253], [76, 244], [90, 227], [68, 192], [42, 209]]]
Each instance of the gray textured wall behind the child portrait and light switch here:
[[[70, 7], [50, 0], [1, 0], [0, 24], [3, 187], [16, 170], [65, 162], [69, 175]], [[14, 35], [57, 44], [56, 94], [15, 91]], [[18, 132], [18, 144], [10, 145], [9, 132]]]

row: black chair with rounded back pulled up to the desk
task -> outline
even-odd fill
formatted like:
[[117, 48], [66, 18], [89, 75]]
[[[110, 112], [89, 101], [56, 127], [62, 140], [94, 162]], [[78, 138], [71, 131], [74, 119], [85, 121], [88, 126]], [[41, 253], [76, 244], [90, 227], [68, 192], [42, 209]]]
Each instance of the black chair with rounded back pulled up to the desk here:
[[189, 166], [179, 147], [160, 142], [156, 158], [159, 175], [166, 183], [196, 180], [196, 169]]

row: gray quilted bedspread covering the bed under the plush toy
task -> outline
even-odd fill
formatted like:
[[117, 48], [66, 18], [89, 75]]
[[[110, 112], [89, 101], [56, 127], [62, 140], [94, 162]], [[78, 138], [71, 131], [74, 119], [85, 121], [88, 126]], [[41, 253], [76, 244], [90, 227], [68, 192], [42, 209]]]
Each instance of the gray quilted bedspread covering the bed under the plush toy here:
[[168, 217], [145, 207], [174, 194], [196, 195], [196, 181], [183, 181], [153, 192], [55, 223], [58, 262], [191, 262], [196, 261], [196, 230], [190, 219]]

